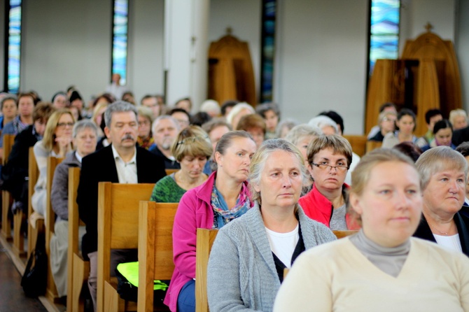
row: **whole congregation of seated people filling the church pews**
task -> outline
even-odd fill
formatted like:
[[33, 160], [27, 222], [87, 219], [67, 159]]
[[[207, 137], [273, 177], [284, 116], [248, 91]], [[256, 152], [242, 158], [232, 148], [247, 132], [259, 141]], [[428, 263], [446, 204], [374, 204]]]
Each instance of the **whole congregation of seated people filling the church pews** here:
[[[196, 111], [188, 97], [172, 106], [158, 94], [136, 101], [120, 85], [87, 105], [74, 87], [50, 101], [36, 92], [0, 97], [1, 157], [3, 137], [16, 135], [1, 168], [12, 211], [27, 213], [29, 148], [38, 179], [30, 199], [34, 213], [25, 223], [47, 218], [52, 183], [48, 261], [58, 297], [69, 294], [71, 278], [69, 168], [80, 168], [76, 203], [84, 223], [80, 253], [90, 263], [88, 311], [103, 304], [98, 185], [105, 181], [151, 183], [148, 201], [179, 203], [174, 273], [163, 301], [170, 311], [195, 311], [197, 229], [218, 230], [205, 277], [211, 311], [367, 311], [384, 303], [386, 311], [469, 311], [463, 110], [448, 116], [427, 111], [427, 131], [418, 137], [416, 114], [385, 103], [377, 125], [363, 136], [382, 148], [358, 155], [344, 134], [346, 120], [335, 111], [307, 123], [281, 115], [273, 103], [208, 99]], [[63, 159], [52, 181], [48, 157]], [[336, 241], [336, 231], [353, 235]], [[111, 250], [111, 276], [118, 264], [138, 260], [136, 249]], [[287, 276], [284, 269], [290, 269]], [[374, 299], [365, 301], [370, 294]]]

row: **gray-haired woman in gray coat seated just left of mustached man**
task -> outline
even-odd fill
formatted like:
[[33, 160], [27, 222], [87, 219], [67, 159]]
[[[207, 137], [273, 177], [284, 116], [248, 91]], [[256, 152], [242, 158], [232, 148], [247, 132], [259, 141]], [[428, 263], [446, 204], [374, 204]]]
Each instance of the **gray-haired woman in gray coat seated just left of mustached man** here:
[[[55, 169], [52, 192], [50, 192], [50, 204], [57, 214], [54, 234], [50, 238], [50, 270], [59, 297], [66, 296], [67, 250], [69, 249], [69, 168], [81, 167], [81, 159], [96, 150], [98, 128], [91, 120], [80, 120], [73, 126], [72, 136], [76, 150], [66, 155]], [[79, 241], [83, 234], [85, 234], [85, 227], [80, 227]]]

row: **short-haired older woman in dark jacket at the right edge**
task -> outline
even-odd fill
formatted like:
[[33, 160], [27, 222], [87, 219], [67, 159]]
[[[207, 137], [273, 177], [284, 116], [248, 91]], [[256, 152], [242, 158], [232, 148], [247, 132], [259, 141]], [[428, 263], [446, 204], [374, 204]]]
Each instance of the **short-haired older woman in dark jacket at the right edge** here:
[[464, 156], [439, 146], [423, 153], [416, 166], [423, 189], [423, 215], [414, 236], [469, 256], [469, 218], [459, 213], [468, 176]]

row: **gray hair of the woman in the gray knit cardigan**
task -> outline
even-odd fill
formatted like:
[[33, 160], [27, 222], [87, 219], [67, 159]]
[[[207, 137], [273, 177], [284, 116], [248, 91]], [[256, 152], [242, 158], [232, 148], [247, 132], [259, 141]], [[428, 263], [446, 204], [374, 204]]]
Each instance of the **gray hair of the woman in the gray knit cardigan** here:
[[259, 185], [262, 171], [265, 168], [265, 162], [267, 158], [277, 150], [283, 150], [287, 153], [293, 154], [298, 160], [300, 166], [300, 173], [302, 175], [303, 185], [307, 182], [307, 171], [304, 166], [303, 157], [300, 150], [293, 143], [286, 141], [285, 139], [270, 139], [262, 142], [258, 150], [251, 159], [251, 165], [249, 166], [249, 188], [251, 191], [252, 199], [260, 202], [260, 192], [254, 189], [254, 185]]

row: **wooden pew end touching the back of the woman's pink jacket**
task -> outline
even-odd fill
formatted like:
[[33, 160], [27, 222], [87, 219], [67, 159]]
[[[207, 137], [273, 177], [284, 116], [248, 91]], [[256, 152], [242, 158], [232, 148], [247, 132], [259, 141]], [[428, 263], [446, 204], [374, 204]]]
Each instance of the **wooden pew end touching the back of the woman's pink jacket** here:
[[[139, 215], [139, 312], [154, 309], [153, 281], [170, 280], [174, 271], [173, 224], [178, 203], [140, 201]], [[169, 311], [160, 302], [158, 307]], [[158, 310], [161, 311], [161, 310]]]

